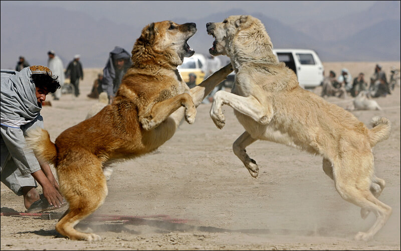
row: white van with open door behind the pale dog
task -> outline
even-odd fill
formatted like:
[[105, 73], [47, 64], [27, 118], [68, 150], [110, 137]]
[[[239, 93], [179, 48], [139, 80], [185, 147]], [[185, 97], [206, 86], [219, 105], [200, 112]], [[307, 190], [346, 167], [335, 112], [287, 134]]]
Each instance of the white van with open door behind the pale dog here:
[[273, 49], [280, 62], [292, 69], [303, 88], [315, 88], [323, 81], [324, 67], [317, 53], [306, 49]]

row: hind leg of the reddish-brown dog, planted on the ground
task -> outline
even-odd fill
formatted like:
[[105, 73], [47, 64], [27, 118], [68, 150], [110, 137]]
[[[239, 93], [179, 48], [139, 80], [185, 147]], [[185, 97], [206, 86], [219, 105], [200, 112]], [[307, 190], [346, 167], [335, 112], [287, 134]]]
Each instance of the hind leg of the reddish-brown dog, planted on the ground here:
[[[99, 163], [96, 167], [80, 166], [80, 171], [71, 173], [67, 169], [77, 167], [58, 167], [60, 189], [69, 203], [69, 208], [56, 224], [56, 230], [70, 239], [96, 241], [101, 237], [95, 233], [84, 233], [74, 229], [82, 219], [93, 213], [103, 204], [107, 196], [106, 179]], [[68, 175], [68, 177], [67, 177]]]

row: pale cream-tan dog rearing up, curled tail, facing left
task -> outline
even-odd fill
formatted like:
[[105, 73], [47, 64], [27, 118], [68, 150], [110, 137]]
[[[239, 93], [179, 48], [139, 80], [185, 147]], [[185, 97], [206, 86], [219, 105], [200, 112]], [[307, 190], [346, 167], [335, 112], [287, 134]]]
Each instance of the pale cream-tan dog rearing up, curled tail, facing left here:
[[340, 196], [360, 206], [363, 218], [374, 212], [372, 227], [355, 236], [372, 238], [391, 215], [391, 207], [377, 199], [385, 183], [374, 175], [371, 151], [388, 138], [388, 119], [373, 118], [374, 128], [369, 130], [351, 113], [299, 87], [297, 76], [278, 62], [265, 27], [254, 17], [231, 16], [222, 23], [208, 23], [207, 31], [216, 39], [209, 52], [230, 57], [236, 72], [232, 93], [217, 92], [210, 114], [222, 128], [222, 106], [234, 108], [246, 131], [233, 150], [252, 177], [258, 176], [259, 168], [245, 148], [258, 139], [322, 155], [323, 170]]

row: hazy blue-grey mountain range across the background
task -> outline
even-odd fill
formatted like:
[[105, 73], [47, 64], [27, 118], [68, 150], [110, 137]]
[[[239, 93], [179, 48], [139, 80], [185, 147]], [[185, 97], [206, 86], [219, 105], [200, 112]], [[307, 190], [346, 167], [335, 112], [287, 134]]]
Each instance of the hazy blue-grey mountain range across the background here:
[[[25, 56], [31, 65], [47, 65], [49, 50], [56, 52], [65, 67], [75, 54], [80, 54], [84, 67], [101, 68], [115, 46], [130, 52], [142, 28], [147, 25], [135, 17], [132, 25], [120, 25], [114, 23], [112, 17], [96, 20], [84, 13], [62, 8], [21, 7], [5, 1], [2, 1], [0, 11], [2, 69], [14, 69], [20, 55]], [[213, 38], [206, 33], [206, 23], [222, 22], [231, 15], [252, 15], [260, 19], [274, 48], [313, 49], [323, 62], [400, 61], [399, 1], [377, 1], [368, 10], [341, 19], [318, 21], [311, 17], [307, 22], [294, 25], [269, 18], [269, 11], [246, 13], [241, 9], [205, 18], [172, 20], [179, 24], [196, 23], [198, 31], [188, 44], [197, 53], [207, 55]]]

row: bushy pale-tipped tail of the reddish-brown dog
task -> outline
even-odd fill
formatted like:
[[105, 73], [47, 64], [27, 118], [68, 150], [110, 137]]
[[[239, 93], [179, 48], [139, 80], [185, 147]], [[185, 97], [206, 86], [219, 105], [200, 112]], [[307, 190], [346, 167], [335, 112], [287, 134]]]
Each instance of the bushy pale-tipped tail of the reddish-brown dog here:
[[40, 127], [28, 130], [25, 140], [33, 150], [37, 158], [46, 160], [51, 164], [56, 163], [56, 145], [50, 141], [48, 131]]

